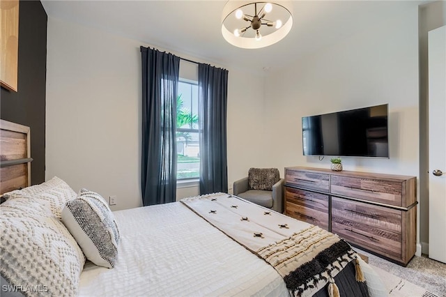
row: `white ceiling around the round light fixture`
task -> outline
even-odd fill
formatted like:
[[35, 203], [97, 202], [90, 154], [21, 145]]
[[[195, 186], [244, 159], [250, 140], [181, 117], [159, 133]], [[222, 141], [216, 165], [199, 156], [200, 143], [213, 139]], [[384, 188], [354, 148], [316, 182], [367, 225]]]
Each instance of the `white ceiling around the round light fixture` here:
[[426, 1], [293, 1], [293, 28], [275, 45], [245, 50], [226, 43], [226, 1], [52, 1], [48, 17], [116, 33], [209, 63], [279, 70], [321, 47], [359, 33]]

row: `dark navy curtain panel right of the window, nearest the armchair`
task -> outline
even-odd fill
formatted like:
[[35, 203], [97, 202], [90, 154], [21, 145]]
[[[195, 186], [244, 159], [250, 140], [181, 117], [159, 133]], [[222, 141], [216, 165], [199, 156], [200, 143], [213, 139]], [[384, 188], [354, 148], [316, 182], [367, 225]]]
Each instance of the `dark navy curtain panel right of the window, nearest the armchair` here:
[[200, 193], [228, 192], [228, 70], [199, 63]]

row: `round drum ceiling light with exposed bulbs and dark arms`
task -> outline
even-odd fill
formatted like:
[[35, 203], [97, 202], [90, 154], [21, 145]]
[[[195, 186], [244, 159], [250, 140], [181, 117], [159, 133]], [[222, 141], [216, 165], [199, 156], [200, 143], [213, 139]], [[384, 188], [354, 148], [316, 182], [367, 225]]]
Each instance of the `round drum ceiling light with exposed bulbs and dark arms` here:
[[291, 1], [229, 0], [222, 13], [224, 39], [246, 49], [277, 43], [289, 33], [292, 25]]

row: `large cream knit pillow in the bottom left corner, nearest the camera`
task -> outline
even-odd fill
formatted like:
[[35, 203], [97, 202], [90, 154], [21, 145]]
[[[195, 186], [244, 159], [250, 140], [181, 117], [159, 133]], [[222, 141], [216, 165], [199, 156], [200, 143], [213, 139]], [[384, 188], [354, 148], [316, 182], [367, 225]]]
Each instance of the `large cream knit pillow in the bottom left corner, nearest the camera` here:
[[0, 226], [0, 274], [9, 284], [25, 296], [77, 296], [84, 254], [45, 205], [33, 197], [8, 199], [0, 205]]

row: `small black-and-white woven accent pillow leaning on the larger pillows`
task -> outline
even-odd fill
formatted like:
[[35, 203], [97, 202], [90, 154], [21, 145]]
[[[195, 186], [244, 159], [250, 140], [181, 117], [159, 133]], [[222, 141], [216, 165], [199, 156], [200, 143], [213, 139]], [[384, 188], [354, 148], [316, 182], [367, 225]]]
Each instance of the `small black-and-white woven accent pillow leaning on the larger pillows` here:
[[119, 231], [114, 215], [98, 193], [81, 189], [68, 201], [62, 222], [82, 248], [87, 259], [98, 266], [113, 268], [118, 256]]

